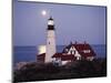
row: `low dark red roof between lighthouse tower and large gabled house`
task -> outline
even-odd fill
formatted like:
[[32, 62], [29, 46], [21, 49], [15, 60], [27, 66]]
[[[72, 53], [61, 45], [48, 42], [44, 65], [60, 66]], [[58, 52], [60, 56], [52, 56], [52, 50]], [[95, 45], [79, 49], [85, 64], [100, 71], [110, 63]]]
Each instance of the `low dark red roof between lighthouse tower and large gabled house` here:
[[62, 61], [74, 60], [74, 55], [72, 54], [63, 54], [63, 53], [56, 53], [52, 58], [60, 58]]

